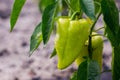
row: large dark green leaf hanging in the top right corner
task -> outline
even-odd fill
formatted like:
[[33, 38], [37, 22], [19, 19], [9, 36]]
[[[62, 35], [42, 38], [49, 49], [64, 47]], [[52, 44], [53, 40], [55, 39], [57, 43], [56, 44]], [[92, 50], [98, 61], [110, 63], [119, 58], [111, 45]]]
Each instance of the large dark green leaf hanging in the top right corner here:
[[119, 12], [114, 0], [102, 0], [101, 7], [107, 27], [116, 35], [119, 30]]

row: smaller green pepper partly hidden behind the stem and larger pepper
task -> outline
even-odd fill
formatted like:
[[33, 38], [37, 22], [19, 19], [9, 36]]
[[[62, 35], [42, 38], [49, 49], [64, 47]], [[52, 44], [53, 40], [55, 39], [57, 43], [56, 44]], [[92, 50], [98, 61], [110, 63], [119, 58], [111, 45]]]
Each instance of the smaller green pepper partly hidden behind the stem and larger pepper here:
[[[93, 32], [92, 35], [96, 35], [97, 33]], [[103, 39], [101, 36], [96, 35], [92, 37], [92, 59], [96, 60], [100, 66], [100, 69], [102, 69], [102, 51], [103, 51]], [[88, 57], [88, 40], [86, 41], [83, 50], [81, 50], [79, 57], [75, 60], [77, 65], [80, 65], [83, 61], [85, 61], [85, 58]]]

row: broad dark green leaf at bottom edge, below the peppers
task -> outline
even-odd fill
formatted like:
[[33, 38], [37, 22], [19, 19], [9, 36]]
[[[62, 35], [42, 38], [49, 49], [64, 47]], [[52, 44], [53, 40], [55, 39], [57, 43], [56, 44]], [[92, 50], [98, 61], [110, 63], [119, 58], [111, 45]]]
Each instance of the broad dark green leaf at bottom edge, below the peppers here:
[[89, 60], [80, 64], [77, 80], [100, 80], [100, 67], [97, 61]]

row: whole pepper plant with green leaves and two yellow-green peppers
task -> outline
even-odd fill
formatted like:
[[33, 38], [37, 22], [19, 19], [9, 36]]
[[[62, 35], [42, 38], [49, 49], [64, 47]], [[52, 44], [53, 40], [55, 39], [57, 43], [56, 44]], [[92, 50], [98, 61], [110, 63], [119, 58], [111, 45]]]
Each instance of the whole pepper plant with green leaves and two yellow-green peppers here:
[[[12, 31], [26, 0], [14, 0], [10, 24]], [[112, 46], [112, 80], [120, 80], [120, 20], [114, 0], [39, 0], [42, 21], [30, 40], [30, 56], [41, 41], [47, 44], [56, 27], [54, 51], [58, 69], [73, 62], [78, 65], [70, 80], [100, 80], [102, 72], [103, 36]], [[104, 27], [95, 30], [103, 16]], [[102, 34], [97, 31], [103, 29]], [[105, 72], [105, 71], [104, 71]]]

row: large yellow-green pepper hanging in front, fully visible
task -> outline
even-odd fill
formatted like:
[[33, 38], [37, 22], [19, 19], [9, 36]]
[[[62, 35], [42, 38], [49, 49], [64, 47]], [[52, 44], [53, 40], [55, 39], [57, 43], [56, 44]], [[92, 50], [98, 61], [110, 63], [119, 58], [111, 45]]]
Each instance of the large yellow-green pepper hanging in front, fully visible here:
[[57, 20], [55, 49], [58, 55], [58, 69], [64, 69], [79, 56], [88, 39], [90, 23], [86, 19], [70, 20], [62, 17]]

